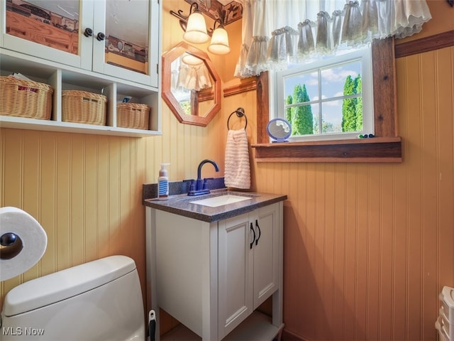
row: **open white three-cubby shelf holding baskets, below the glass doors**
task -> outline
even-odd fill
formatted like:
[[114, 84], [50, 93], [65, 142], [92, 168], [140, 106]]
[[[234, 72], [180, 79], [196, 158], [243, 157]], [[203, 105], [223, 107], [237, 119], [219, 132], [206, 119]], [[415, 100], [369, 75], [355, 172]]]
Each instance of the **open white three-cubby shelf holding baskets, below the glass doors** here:
[[[54, 89], [52, 118], [50, 120], [4, 116], [0, 113], [0, 127], [2, 128], [133, 137], [162, 134], [160, 90], [155, 87], [141, 85], [128, 80], [118, 80], [108, 75], [100, 75], [96, 72], [60, 65], [50, 60], [42, 60], [4, 48], [0, 48], [0, 65], [1, 75], [21, 72], [26, 77], [36, 82], [46, 83]], [[97, 126], [62, 121], [62, 90], [103, 92], [108, 99], [107, 125]], [[128, 129], [116, 126], [116, 105], [111, 104], [121, 101], [123, 96], [131, 96], [135, 99], [135, 102], [144, 103], [151, 107], [150, 129]]]

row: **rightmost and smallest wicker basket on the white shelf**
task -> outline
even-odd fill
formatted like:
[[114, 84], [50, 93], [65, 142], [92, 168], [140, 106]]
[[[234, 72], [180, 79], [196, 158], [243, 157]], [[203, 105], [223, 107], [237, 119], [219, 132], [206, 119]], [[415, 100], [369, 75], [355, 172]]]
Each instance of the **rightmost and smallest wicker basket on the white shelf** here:
[[150, 107], [146, 104], [116, 104], [116, 126], [132, 129], [148, 129], [149, 120]]

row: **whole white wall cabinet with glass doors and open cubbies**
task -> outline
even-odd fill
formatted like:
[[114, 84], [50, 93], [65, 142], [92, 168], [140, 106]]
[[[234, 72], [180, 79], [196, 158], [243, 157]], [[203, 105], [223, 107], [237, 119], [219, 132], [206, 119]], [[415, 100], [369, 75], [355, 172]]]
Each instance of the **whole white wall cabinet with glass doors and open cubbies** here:
[[[39, 7], [44, 4], [55, 12]], [[60, 7], [65, 11], [58, 13]], [[73, 10], [77, 15], [70, 15]], [[52, 86], [54, 94], [50, 121], [0, 112], [0, 126], [121, 136], [161, 134], [160, 12], [158, 0], [1, 1], [0, 17], [5, 20], [1, 21], [0, 75], [20, 72]], [[87, 29], [92, 36], [84, 34]], [[104, 40], [97, 38], [98, 33], [104, 34]], [[106, 126], [62, 121], [62, 90], [106, 95]], [[116, 126], [116, 102], [126, 96], [151, 107], [150, 129]]]

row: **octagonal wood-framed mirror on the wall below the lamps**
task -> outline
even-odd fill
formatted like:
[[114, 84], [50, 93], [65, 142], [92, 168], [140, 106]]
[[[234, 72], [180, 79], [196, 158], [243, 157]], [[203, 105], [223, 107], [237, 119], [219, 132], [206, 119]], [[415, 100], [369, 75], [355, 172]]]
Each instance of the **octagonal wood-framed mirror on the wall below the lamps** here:
[[180, 123], [209, 124], [221, 109], [221, 79], [209, 56], [184, 41], [164, 53], [162, 98]]

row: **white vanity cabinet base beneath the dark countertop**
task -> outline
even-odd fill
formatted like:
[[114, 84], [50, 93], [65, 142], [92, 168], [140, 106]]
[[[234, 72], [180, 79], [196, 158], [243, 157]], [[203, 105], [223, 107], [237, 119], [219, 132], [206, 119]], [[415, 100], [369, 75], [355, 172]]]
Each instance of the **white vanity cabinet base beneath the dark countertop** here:
[[[217, 222], [146, 207], [146, 223], [152, 308], [204, 341], [271, 341], [279, 334], [282, 201]], [[256, 310], [270, 296], [272, 318]]]

